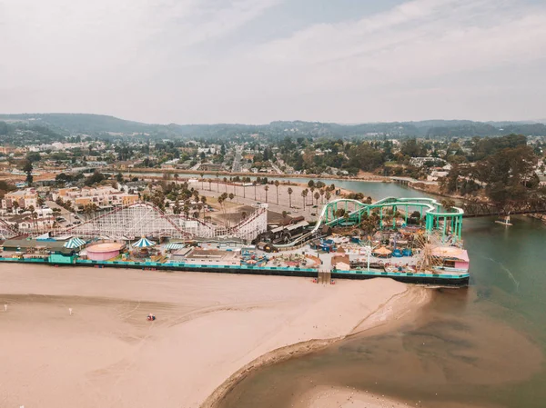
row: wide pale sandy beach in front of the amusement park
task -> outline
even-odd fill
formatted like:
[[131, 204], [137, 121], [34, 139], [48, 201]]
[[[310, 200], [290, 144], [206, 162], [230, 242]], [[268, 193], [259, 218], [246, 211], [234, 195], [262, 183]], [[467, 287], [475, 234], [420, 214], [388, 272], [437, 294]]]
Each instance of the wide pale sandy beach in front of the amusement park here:
[[11, 264], [0, 282], [0, 406], [41, 408], [198, 407], [260, 356], [389, 321], [407, 289]]

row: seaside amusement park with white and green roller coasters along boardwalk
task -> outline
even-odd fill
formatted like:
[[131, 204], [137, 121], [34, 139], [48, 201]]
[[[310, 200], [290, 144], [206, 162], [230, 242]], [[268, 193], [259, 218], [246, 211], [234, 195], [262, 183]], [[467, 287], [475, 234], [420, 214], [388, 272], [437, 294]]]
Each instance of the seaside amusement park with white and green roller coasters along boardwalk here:
[[64, 229], [16, 236], [3, 224], [2, 262], [152, 271], [276, 274], [333, 279], [389, 277], [404, 283], [467, 285], [463, 210], [432, 198], [364, 203], [333, 198], [316, 220], [269, 220], [257, 203], [237, 224], [167, 214], [136, 202]]

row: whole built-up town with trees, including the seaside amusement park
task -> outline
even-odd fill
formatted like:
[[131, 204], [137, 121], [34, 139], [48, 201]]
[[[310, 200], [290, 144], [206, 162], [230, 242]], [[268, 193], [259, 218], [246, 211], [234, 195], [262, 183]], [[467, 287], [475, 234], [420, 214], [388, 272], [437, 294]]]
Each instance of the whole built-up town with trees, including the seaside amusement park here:
[[[6, 126], [28, 139], [1, 150], [3, 256], [22, 262], [468, 284], [465, 210], [454, 200], [506, 205], [517, 194], [534, 203], [544, 193], [543, 136], [271, 143], [241, 134], [225, 143]], [[30, 143], [44, 133], [49, 143]], [[483, 171], [507, 165], [514, 172], [498, 180]], [[336, 185], [350, 180], [448, 198], [372, 197]]]

